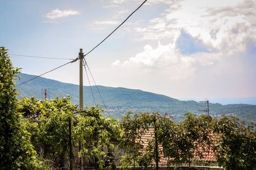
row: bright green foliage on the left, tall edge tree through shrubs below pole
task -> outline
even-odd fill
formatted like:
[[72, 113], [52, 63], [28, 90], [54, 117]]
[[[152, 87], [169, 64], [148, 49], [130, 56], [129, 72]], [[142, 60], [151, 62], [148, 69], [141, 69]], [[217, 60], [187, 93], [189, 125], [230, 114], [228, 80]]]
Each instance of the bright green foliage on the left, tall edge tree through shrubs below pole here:
[[77, 162], [115, 167], [118, 121], [103, 117], [97, 107], [77, 109], [69, 96], [18, 100], [14, 87], [19, 69], [13, 68], [7, 50], [0, 50], [0, 169], [67, 169]]

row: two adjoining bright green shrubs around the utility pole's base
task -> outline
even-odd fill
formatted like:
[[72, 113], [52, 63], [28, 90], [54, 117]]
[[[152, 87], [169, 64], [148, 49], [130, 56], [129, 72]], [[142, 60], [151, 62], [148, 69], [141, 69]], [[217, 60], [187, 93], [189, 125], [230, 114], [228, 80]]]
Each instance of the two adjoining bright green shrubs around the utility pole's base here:
[[[78, 110], [68, 96], [46, 101], [24, 98], [19, 111], [30, 122], [32, 144], [51, 166], [67, 167], [68, 153], [71, 157], [77, 155], [86, 166], [115, 166], [113, 141], [118, 141], [121, 131], [118, 121], [102, 116], [102, 109], [95, 106]], [[69, 124], [73, 150], [68, 143]]]

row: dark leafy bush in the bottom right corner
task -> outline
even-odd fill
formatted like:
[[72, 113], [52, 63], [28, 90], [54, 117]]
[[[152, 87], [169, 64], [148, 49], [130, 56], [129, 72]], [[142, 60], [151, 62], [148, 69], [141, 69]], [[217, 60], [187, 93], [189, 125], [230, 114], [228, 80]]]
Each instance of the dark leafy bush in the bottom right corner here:
[[214, 149], [218, 163], [226, 169], [256, 169], [255, 124], [245, 124], [239, 118], [222, 115], [214, 121], [218, 134]]

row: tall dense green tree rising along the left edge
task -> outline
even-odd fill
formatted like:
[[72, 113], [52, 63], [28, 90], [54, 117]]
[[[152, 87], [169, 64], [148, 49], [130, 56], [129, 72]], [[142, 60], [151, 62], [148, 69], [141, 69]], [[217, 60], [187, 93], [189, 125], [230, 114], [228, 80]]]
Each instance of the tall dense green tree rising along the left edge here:
[[15, 79], [7, 50], [0, 48], [0, 167], [1, 169], [43, 169], [26, 131], [26, 120], [17, 111]]

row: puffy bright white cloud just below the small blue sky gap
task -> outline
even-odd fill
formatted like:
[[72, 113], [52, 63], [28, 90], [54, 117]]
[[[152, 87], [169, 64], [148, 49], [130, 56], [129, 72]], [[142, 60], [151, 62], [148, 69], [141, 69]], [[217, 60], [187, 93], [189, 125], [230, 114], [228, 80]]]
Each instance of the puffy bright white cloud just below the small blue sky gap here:
[[159, 45], [152, 48], [145, 45], [143, 52], [130, 57], [124, 62], [116, 60], [113, 66], [126, 68], [137, 67], [149, 72], [160, 72], [163, 76], [175, 73], [170, 79], [180, 80], [193, 76], [200, 67], [216, 64], [220, 60], [219, 53], [195, 53], [193, 55], [182, 55], [174, 44]]

